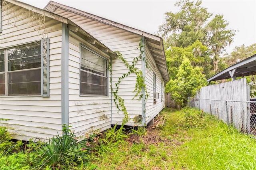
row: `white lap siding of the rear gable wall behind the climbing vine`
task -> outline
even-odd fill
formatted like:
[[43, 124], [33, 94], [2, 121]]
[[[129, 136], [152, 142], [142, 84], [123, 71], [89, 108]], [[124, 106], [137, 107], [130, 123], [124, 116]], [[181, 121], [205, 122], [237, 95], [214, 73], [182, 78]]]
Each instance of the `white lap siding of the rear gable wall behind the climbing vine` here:
[[[112, 51], [119, 51], [123, 55], [124, 59], [126, 59], [130, 64], [133, 59], [140, 54], [138, 46], [141, 36], [139, 35], [109, 26], [84, 16], [80, 16], [78, 18], [76, 17], [77, 14], [72, 14], [71, 12], [66, 12], [62, 9], [57, 9], [54, 13], [69, 18]], [[141, 70], [141, 61], [137, 63], [136, 67]], [[118, 83], [118, 78], [122, 77], [124, 73], [128, 73], [128, 71], [129, 70], [120, 59], [112, 60], [112, 85], [114, 90], [116, 89], [115, 83]], [[134, 125], [132, 121], [134, 116], [142, 114], [141, 101], [136, 99], [132, 100], [136, 94], [133, 93], [135, 85], [136, 75], [130, 74], [128, 77], [122, 79], [118, 89], [118, 96], [124, 99], [124, 105], [126, 106], [129, 117], [131, 118], [127, 125]], [[112, 124], [118, 123], [120, 125], [122, 124], [122, 118], [124, 115], [121, 112], [118, 112], [114, 101], [112, 101], [112, 103]]]

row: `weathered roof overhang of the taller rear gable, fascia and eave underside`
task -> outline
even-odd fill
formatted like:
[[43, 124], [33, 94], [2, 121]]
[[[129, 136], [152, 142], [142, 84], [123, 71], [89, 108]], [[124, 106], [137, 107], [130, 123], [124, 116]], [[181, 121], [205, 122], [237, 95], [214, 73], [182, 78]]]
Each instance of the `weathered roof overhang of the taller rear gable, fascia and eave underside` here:
[[98, 22], [101, 22], [101, 23], [104, 23], [104, 24], [107, 24], [107, 25], [110, 25], [110, 26], [113, 26], [116, 28], [120, 28], [122, 30], [126, 30], [128, 32], [132, 32], [132, 33], [140, 35], [140, 36], [144, 36], [146, 38], [146, 43], [148, 45], [148, 48], [150, 49], [150, 52], [152, 53], [152, 56], [154, 57], [156, 65], [162, 75], [162, 78], [164, 79], [164, 81], [169, 81], [169, 74], [168, 74], [168, 69], [167, 69], [167, 65], [166, 65], [166, 56], [165, 56], [165, 52], [164, 52], [163, 40], [161, 37], [155, 36], [153, 34], [149, 34], [147, 32], [137, 30], [135, 28], [131, 28], [129, 26], [125, 26], [123, 24], [119, 24], [119, 23], [111, 21], [111, 20], [107, 20], [105, 18], [90, 14], [88, 12], [78, 10], [76, 8], [72, 8], [72, 7], [63, 5], [63, 4], [59, 4], [54, 1], [50, 1], [46, 5], [46, 7], [44, 7], [45, 10], [48, 10], [53, 13], [58, 8], [61, 8], [62, 10], [66, 10], [69, 12], [73, 12], [73, 13], [81, 15], [81, 16], [85, 16], [87, 18], [96, 20]]

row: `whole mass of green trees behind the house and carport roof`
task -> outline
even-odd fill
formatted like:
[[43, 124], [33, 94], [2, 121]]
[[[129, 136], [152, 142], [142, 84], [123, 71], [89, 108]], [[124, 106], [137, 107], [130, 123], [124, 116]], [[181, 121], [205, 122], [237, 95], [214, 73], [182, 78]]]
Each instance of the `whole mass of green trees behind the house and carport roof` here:
[[[200, 0], [179, 0], [174, 6], [179, 11], [165, 13], [165, 22], [159, 26], [158, 34], [164, 38], [170, 77], [165, 92], [170, 92], [172, 100], [184, 107], [186, 98], [195, 97], [194, 91], [206, 85], [204, 81], [198, 81], [198, 73], [191, 75], [197, 81], [179, 76], [185, 59], [190, 60], [191, 67], [202, 75], [200, 77], [208, 79], [255, 54], [256, 44], [235, 47], [228, 54], [225, 48], [233, 42], [236, 30], [228, 28], [229, 23], [222, 14], [211, 13]], [[186, 74], [190, 74], [189, 70]]]

